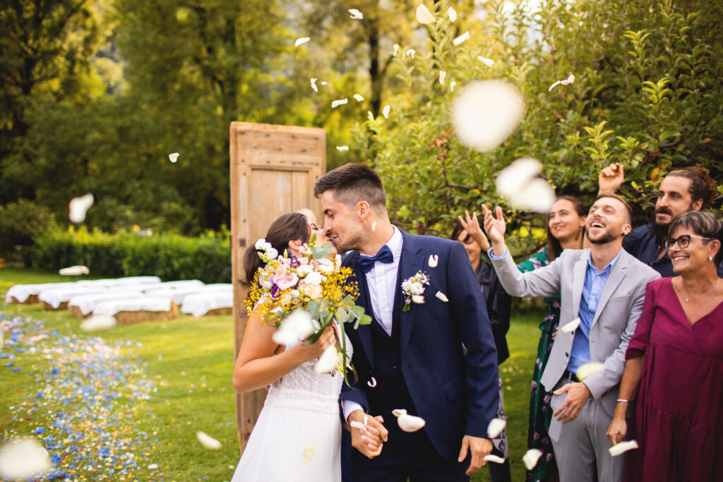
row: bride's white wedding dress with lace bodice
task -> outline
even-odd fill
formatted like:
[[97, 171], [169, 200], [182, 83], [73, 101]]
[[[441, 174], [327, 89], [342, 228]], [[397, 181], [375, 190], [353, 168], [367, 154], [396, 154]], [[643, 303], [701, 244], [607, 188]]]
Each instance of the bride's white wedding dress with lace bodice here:
[[[346, 347], [351, 357], [348, 339]], [[231, 482], [341, 481], [343, 376], [316, 374], [315, 363], [271, 384]]]

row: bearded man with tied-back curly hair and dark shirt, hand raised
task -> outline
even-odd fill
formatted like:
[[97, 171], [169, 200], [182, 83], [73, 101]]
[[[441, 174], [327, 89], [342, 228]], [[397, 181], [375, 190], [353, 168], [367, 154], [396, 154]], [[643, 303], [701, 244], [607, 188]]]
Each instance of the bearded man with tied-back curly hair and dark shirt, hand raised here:
[[[623, 184], [623, 176], [620, 163], [604, 168], [599, 176], [600, 193], [617, 191]], [[662, 277], [677, 276], [665, 249], [670, 223], [683, 212], [708, 209], [716, 195], [716, 181], [708, 169], [693, 166], [671, 171], [660, 183], [654, 220], [625, 236], [623, 248]], [[718, 267], [718, 275], [723, 277], [723, 263]]]

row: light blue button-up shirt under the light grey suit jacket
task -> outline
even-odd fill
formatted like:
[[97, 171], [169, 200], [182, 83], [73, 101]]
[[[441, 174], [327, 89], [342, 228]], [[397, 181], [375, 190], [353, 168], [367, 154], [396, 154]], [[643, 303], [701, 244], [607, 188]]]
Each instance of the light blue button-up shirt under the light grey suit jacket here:
[[583, 296], [580, 300], [580, 311], [578, 311], [580, 326], [575, 330], [573, 348], [570, 350], [568, 371], [577, 373], [581, 365], [590, 362], [590, 328], [592, 327], [592, 321], [595, 318], [595, 311], [597, 311], [597, 305], [600, 302], [600, 296], [602, 296], [602, 290], [605, 288], [607, 278], [610, 277], [610, 272], [622, 252], [623, 250], [621, 249], [620, 252], [617, 253], [617, 256], [613, 258], [602, 271], [598, 271], [594, 264], [592, 264], [588, 252], [588, 267], [585, 273]]

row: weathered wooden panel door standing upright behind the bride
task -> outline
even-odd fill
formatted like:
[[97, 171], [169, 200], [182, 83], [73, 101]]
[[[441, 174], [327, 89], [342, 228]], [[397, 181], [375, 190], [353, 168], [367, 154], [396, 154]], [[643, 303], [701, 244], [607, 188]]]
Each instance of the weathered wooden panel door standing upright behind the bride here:
[[[234, 279], [234, 360], [247, 322], [244, 251], [286, 212], [307, 207], [321, 218], [314, 183], [326, 171], [324, 129], [231, 123], [231, 264]], [[236, 427], [243, 452], [266, 397], [236, 394]]]

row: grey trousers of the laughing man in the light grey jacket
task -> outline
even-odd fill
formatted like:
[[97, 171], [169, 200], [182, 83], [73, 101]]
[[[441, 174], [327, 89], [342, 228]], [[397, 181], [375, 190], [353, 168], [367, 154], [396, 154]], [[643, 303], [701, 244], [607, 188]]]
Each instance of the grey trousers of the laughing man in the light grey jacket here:
[[[555, 390], [568, 384], [563, 378]], [[550, 406], [560, 408], [566, 394], [552, 395]], [[590, 397], [577, 418], [564, 425], [552, 418], [549, 438], [555, 450], [560, 482], [622, 482], [624, 455], [612, 457], [607, 451], [611, 444], [605, 435], [612, 417], [599, 402]], [[597, 478], [595, 477], [597, 470]]]

